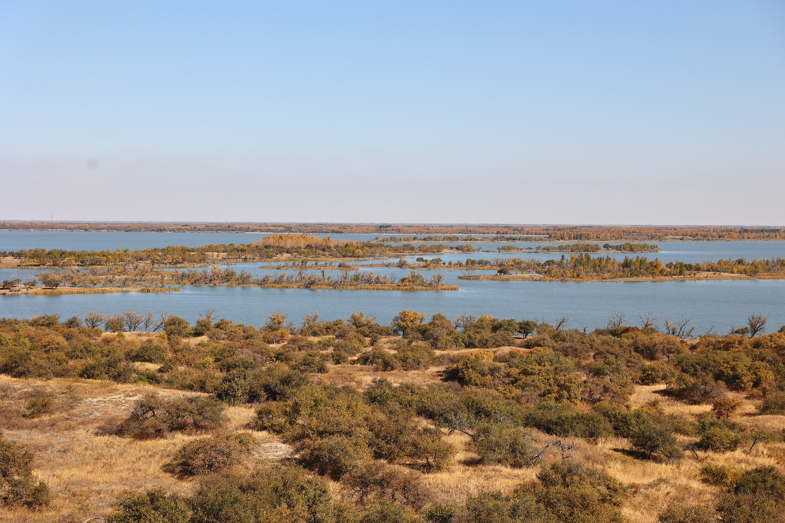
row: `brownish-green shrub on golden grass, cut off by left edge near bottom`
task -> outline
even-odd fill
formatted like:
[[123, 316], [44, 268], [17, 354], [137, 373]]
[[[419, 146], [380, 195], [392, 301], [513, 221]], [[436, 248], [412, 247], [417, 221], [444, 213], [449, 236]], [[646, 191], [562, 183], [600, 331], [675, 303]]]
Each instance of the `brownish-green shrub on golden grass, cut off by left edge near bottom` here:
[[49, 486], [35, 480], [32, 461], [33, 453], [27, 446], [8, 441], [0, 433], [0, 503], [27, 508], [49, 504]]

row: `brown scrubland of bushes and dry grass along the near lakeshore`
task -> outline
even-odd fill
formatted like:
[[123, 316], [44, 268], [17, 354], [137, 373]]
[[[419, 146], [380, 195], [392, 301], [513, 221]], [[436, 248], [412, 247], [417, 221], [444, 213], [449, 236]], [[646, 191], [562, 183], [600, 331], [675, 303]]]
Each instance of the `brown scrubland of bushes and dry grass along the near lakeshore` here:
[[3, 318], [0, 521], [782, 521], [785, 328], [640, 319]]

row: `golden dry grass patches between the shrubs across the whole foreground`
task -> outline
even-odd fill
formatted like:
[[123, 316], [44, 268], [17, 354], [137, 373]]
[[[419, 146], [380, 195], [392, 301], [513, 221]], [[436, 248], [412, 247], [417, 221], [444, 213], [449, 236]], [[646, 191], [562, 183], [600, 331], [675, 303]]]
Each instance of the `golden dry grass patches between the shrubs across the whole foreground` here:
[[[114, 335], [108, 335], [114, 336]], [[155, 337], [152, 333], [132, 332], [126, 336], [134, 341]], [[149, 365], [149, 364], [144, 364]], [[428, 385], [438, 383], [441, 368], [422, 371], [376, 372], [358, 365], [330, 365], [327, 380], [341, 385], [349, 384], [361, 390], [374, 378], [386, 378], [392, 383]], [[636, 387], [630, 400], [633, 406], [659, 400], [665, 412], [688, 417], [710, 411], [710, 405], [685, 405], [662, 394], [663, 386]], [[170, 492], [187, 495], [195, 482], [178, 480], [161, 470], [172, 453], [189, 439], [199, 436], [177, 434], [172, 438], [153, 441], [133, 441], [113, 435], [101, 435], [100, 427], [117, 422], [126, 416], [133, 401], [151, 390], [161, 394], [188, 394], [173, 390], [160, 390], [144, 384], [122, 385], [95, 380], [16, 380], [0, 376], [0, 430], [13, 441], [24, 441], [35, 452], [35, 474], [49, 484], [53, 503], [40, 512], [0, 512], [0, 523], [32, 521], [84, 521], [93, 516], [108, 514], [119, 496], [126, 491], [144, 491], [164, 488]], [[24, 406], [29, 398], [46, 394], [57, 405], [49, 416], [30, 419], [24, 417]], [[764, 428], [781, 430], [785, 416], [754, 416], [755, 402], [732, 394], [743, 400], [740, 414], [733, 419], [745, 429]], [[226, 429], [248, 430], [254, 408], [237, 405], [227, 409]], [[420, 424], [429, 423], [418, 419]], [[251, 431], [259, 445], [247, 460], [247, 467], [268, 459], [285, 459], [291, 449], [273, 434]], [[553, 436], [533, 431], [539, 445], [553, 441]], [[462, 503], [466, 497], [484, 490], [509, 492], [521, 482], [535, 479], [540, 467], [513, 469], [485, 465], [473, 452], [471, 439], [455, 432], [444, 436], [455, 446], [455, 463], [447, 470], [422, 477], [425, 487], [442, 502]], [[711, 505], [721, 496], [721, 489], [703, 484], [699, 480], [700, 468], [707, 463], [731, 465], [748, 470], [763, 465], [785, 466], [785, 444], [759, 444], [753, 452], [748, 445], [736, 452], [715, 454], [699, 452], [695, 456], [673, 463], [655, 463], [637, 459], [623, 438], [609, 438], [591, 444], [582, 440], [572, 443], [569, 459], [601, 467], [630, 489], [630, 496], [623, 506], [623, 514], [630, 523], [655, 523], [657, 514], [669, 503]], [[562, 459], [560, 451], [553, 448], [543, 456], [543, 465]], [[332, 485], [332, 483], [331, 483]], [[333, 485], [338, 492], [340, 487]]]

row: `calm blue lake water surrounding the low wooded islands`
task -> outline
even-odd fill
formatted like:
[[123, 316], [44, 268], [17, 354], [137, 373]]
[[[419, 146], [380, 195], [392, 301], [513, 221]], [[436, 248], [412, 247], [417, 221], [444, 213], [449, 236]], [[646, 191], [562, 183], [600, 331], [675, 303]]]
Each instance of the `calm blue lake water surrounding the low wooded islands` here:
[[[0, 250], [17, 249], [143, 249], [166, 245], [199, 246], [210, 243], [249, 243], [265, 234], [232, 233], [117, 233], [65, 231], [0, 231]], [[323, 235], [327, 236], [327, 234]], [[375, 234], [329, 235], [331, 238], [367, 240]], [[660, 252], [644, 256], [663, 261], [699, 262], [719, 258], [764, 259], [785, 257], [785, 242], [656, 242]], [[482, 249], [498, 245], [475, 244]], [[522, 243], [520, 245], [558, 245]], [[559, 253], [530, 254], [476, 252], [423, 255], [443, 260], [466, 260], [467, 257], [492, 259], [495, 256], [558, 258]], [[619, 256], [619, 255], [615, 255]], [[620, 255], [624, 256], [624, 255]], [[413, 259], [416, 256], [407, 256]], [[259, 269], [258, 263], [241, 263], [254, 274], [273, 270]], [[407, 270], [373, 267], [377, 274], [395, 274]], [[38, 271], [0, 270], [0, 279], [15, 276], [34, 277]], [[337, 271], [328, 274], [337, 275]], [[426, 276], [433, 274], [425, 271]], [[767, 331], [785, 325], [785, 280], [743, 281], [620, 281], [620, 282], [553, 282], [553, 281], [465, 281], [457, 277], [462, 271], [443, 271], [446, 282], [460, 285], [457, 292], [405, 291], [336, 291], [313, 289], [259, 289], [250, 287], [184, 286], [181, 292], [118, 293], [104, 295], [62, 296], [0, 296], [0, 317], [29, 318], [40, 314], [60, 314], [62, 318], [83, 317], [89, 311], [117, 314], [126, 310], [140, 312], [168, 311], [188, 321], [195, 321], [200, 311], [215, 309], [218, 317], [262, 325], [268, 314], [283, 311], [299, 324], [302, 315], [319, 311], [324, 319], [348, 318], [352, 312], [373, 314], [378, 321], [389, 323], [402, 309], [426, 314], [491, 314], [497, 318], [539, 318], [553, 321], [560, 314], [571, 317], [570, 325], [589, 329], [604, 327], [608, 316], [625, 311], [630, 325], [638, 322], [638, 314], [652, 311], [662, 326], [665, 318], [676, 321], [692, 318], [697, 333], [714, 326], [725, 333], [731, 326], [746, 323], [750, 314], [769, 318]]]

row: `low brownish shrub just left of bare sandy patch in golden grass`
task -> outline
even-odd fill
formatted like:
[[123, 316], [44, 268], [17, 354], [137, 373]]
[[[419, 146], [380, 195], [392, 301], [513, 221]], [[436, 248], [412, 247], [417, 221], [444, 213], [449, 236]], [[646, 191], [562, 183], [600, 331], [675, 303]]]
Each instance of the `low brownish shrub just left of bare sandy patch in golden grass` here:
[[178, 478], [217, 472], [239, 463], [250, 454], [254, 445], [250, 434], [222, 434], [188, 441], [166, 465], [164, 470]]

